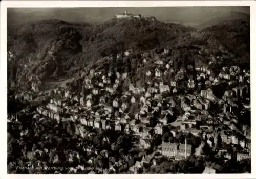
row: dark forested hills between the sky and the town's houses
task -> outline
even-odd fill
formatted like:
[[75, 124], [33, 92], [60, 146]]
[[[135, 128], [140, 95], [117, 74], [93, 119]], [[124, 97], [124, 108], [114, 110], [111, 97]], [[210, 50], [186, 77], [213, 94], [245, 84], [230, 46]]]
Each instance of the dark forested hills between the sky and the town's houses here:
[[168, 58], [176, 60], [180, 67], [181, 63], [187, 63], [186, 59], [196, 65], [203, 60], [207, 63], [212, 55], [199, 54], [199, 49], [216, 51], [222, 45], [225, 50], [221, 53], [231, 53], [236, 59], [240, 58], [238, 63], [243, 59], [248, 66], [248, 39], [249, 24], [242, 20], [226, 21], [201, 32], [152, 17], [111, 19], [99, 25], [56, 19], [16, 27], [9, 25], [8, 51], [13, 57], [8, 57], [8, 81], [30, 89], [31, 81], [44, 83], [72, 78], [90, 62], [102, 61], [127, 49], [139, 55], [154, 49], [161, 52], [163, 47], [169, 47], [173, 50]]

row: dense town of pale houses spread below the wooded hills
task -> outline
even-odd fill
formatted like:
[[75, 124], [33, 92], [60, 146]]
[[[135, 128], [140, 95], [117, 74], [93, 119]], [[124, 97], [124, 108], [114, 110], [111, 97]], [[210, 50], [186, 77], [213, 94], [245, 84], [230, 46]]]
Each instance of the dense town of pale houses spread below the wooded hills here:
[[[18, 115], [9, 116], [8, 121], [12, 123], [33, 114], [35, 125], [48, 120], [56, 124], [74, 123], [74, 134], [80, 138], [80, 143], [74, 145], [80, 146], [87, 156], [101, 154], [109, 160], [111, 151], [100, 151], [93, 143], [83, 145], [81, 141], [88, 136], [95, 138], [102, 131], [122, 136], [114, 143], [108, 135], [100, 140], [111, 145], [112, 153], [121, 153], [119, 160], [104, 165], [102, 173], [140, 173], [142, 168], [157, 167], [159, 158], [180, 161], [192, 155], [205, 157], [210, 152], [224, 160], [250, 159], [250, 126], [241, 124], [238, 118], [250, 113], [250, 71], [231, 66], [213, 75], [208, 66], [216, 60], [211, 60], [209, 65], [195, 67], [195, 76], [187, 76], [187, 69], [193, 70], [193, 66], [174, 68], [173, 61], [167, 58], [169, 52], [170, 49], [164, 48], [160, 53], [154, 50], [141, 53], [137, 72], [143, 71], [143, 85], [134, 83], [130, 72], [125, 70], [120, 73], [97, 68], [81, 72], [80, 94], [60, 87], [44, 92], [32, 83], [30, 92], [15, 98], [28, 103], [48, 98], [47, 104], [33, 111], [23, 109]], [[203, 49], [199, 53], [203, 53]], [[129, 49], [105, 59], [113, 61], [133, 54]], [[154, 66], [144, 68], [150, 62]], [[166, 77], [170, 75], [174, 78]], [[33, 81], [33, 76], [30, 80]], [[213, 89], [222, 88], [223, 84], [228, 84], [224, 95], [215, 95]], [[250, 118], [242, 117], [242, 120], [250, 123]], [[28, 130], [21, 129], [21, 134], [26, 135]], [[126, 139], [127, 136], [132, 137]], [[126, 140], [129, 146], [125, 145]], [[129, 151], [121, 152], [122, 148]], [[70, 151], [69, 155], [70, 163], [75, 158], [81, 159], [77, 151]], [[91, 157], [86, 163], [93, 166], [95, 160]], [[74, 166], [70, 172], [76, 173], [76, 167], [81, 170], [88, 166]], [[205, 167], [204, 173], [215, 173], [215, 169]]]

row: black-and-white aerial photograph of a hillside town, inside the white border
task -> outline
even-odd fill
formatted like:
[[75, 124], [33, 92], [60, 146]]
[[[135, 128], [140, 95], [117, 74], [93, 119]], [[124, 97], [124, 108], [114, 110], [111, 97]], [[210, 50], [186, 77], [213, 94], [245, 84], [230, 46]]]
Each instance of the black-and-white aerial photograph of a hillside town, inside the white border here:
[[251, 173], [250, 7], [7, 8], [8, 174]]

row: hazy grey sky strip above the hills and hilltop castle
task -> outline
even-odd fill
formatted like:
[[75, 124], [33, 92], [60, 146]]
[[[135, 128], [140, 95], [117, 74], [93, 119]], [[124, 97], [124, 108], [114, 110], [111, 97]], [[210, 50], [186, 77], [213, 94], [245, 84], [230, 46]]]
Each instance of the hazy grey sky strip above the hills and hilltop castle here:
[[155, 16], [164, 22], [192, 26], [205, 23], [212, 18], [230, 16], [230, 12], [250, 13], [249, 7], [8, 8], [7, 20], [12, 23], [25, 23], [55, 18], [67, 22], [101, 23], [125, 10], [144, 17]]

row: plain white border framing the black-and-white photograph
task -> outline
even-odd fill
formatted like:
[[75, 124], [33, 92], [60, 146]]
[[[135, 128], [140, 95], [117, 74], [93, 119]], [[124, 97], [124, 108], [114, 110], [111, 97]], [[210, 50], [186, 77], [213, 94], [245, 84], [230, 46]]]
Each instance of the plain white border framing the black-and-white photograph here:
[[[253, 47], [255, 49], [255, 35], [253, 34], [253, 29], [255, 29], [255, 12], [256, 6], [255, 1], [1, 1], [1, 61], [0, 61], [0, 69], [1, 69], [1, 108], [0, 114], [2, 115], [2, 120], [0, 124], [0, 132], [1, 132], [1, 143], [0, 147], [0, 155], [1, 155], [1, 168], [0, 168], [0, 178], [70, 178], [70, 177], [89, 177], [89, 178], [256, 178], [256, 170], [255, 170], [255, 160], [254, 160], [254, 152], [251, 154], [252, 164], [251, 164], [251, 174], [143, 174], [143, 175], [7, 175], [7, 7], [162, 7], [162, 6], [250, 6], [250, 32], [251, 32], [251, 119], [255, 119], [255, 111], [254, 106], [256, 106], [253, 99], [255, 90], [253, 79], [255, 79], [255, 73], [253, 73], [252, 69], [255, 67], [255, 63], [253, 63], [252, 59], [255, 59], [255, 54], [253, 51]], [[255, 105], [254, 105], [255, 104]], [[250, 120], [250, 119], [245, 119]], [[254, 120], [251, 120], [251, 129], [256, 125]], [[253, 134], [255, 131], [251, 131], [251, 137], [253, 138]], [[255, 143], [253, 140], [251, 141], [251, 150], [253, 151]]]

